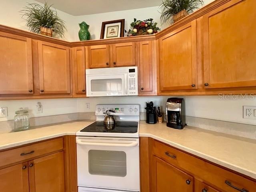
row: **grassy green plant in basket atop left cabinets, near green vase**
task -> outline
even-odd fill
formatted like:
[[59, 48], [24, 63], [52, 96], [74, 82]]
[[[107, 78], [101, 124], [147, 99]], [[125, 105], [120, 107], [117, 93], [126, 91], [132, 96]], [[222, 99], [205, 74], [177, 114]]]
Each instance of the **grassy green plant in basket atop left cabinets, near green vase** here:
[[45, 2], [44, 6], [29, 3], [20, 12], [22, 13], [22, 18], [27, 21], [26, 25], [30, 31], [51, 37], [54, 31], [57, 35], [63, 37], [66, 26], [58, 16], [57, 11], [51, 7], [52, 5], [48, 6], [47, 2]]

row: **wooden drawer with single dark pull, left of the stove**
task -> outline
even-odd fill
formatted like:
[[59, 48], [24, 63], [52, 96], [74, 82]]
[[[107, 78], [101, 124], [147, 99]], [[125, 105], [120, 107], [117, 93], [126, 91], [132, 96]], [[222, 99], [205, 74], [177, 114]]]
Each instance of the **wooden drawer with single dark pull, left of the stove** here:
[[0, 167], [15, 162], [24, 161], [44, 154], [63, 149], [63, 139], [58, 138], [29, 146], [24, 146], [8, 151], [0, 152]]

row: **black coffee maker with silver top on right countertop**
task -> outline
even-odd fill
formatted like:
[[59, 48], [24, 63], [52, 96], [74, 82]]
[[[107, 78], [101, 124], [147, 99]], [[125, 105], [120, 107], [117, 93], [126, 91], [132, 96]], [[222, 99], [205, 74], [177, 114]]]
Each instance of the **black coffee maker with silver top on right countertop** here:
[[183, 98], [168, 98], [166, 102], [167, 126], [174, 129], [183, 129], [186, 125], [185, 104]]

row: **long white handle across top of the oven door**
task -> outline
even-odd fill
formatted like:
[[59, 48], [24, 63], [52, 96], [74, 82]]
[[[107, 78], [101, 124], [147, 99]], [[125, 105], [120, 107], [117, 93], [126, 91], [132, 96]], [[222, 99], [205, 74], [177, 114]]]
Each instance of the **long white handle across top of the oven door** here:
[[129, 143], [97, 143], [97, 142], [84, 142], [81, 139], [76, 140], [77, 144], [90, 145], [90, 146], [108, 146], [108, 147], [135, 147], [138, 146], [137, 141], [131, 141]]

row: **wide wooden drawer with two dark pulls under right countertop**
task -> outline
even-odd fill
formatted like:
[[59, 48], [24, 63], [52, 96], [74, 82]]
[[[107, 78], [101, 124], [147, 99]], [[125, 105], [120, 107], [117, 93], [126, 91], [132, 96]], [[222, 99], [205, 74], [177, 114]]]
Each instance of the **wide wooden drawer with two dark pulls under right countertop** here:
[[256, 182], [246, 179], [240, 175], [230, 172], [224, 168], [210, 164], [204, 160], [176, 150], [156, 140], [150, 140], [153, 155], [166, 162], [202, 179], [202, 182], [215, 186], [222, 192], [238, 192], [234, 187], [245, 189], [244, 191], [255, 191]]

